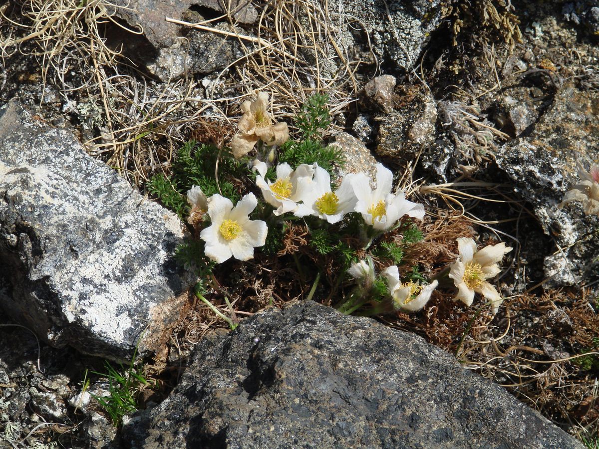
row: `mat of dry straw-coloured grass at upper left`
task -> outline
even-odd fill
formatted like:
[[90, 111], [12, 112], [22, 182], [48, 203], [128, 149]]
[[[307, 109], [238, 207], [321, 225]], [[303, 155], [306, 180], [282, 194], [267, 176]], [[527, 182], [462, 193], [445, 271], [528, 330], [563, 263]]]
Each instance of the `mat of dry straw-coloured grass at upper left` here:
[[[154, 83], [135, 71], [119, 48], [106, 44], [108, 25], [123, 25], [104, 0], [25, 0], [0, 12], [2, 60], [16, 52], [36, 57], [44, 83], [57, 86], [68, 104], [66, 113], [91, 131], [83, 136], [89, 153], [135, 186], [168, 170], [176, 149], [198, 129], [230, 131], [237, 105], [256, 90], [270, 92], [274, 115], [288, 122], [314, 92], [328, 93], [333, 117], [358, 92], [361, 61], [350, 60], [340, 43], [346, 26], [360, 25], [316, 0], [266, 2], [254, 26], [257, 37], [247, 36], [231, 11], [196, 24], [177, 21], [243, 48], [244, 56], [211, 75], [206, 89], [196, 78]], [[213, 26], [223, 20], [228, 32]]]

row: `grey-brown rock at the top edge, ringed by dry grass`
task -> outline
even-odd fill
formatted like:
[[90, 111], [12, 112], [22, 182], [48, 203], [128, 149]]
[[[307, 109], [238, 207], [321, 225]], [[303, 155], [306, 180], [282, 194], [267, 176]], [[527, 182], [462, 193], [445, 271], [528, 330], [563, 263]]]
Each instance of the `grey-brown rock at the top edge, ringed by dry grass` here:
[[[201, 9], [206, 15], [220, 16], [222, 13], [226, 13], [226, 8], [223, 6], [225, 4], [218, 0], [183, 0], [176, 2], [165, 0], [117, 0], [114, 5], [116, 5], [116, 8], [112, 11], [114, 15], [124, 20], [129, 28], [143, 31], [144, 40], [135, 38], [131, 34], [120, 37], [119, 33], [115, 33], [116, 36], [113, 36], [113, 40], [120, 40], [119, 43], [124, 45], [127, 56], [135, 60], [140, 60], [140, 57], [143, 57], [143, 63], [147, 70], [150, 74], [160, 78], [161, 81], [167, 81], [171, 77], [177, 78], [184, 74], [186, 68], [198, 68], [202, 65], [201, 62], [198, 63], [194, 59], [198, 49], [195, 48], [195, 51], [188, 52], [186, 45], [182, 44], [183, 37], [187, 32], [190, 32], [192, 38], [195, 38], [196, 35], [202, 35], [198, 42], [210, 42], [208, 48], [211, 48], [211, 50], [214, 50], [214, 41], [223, 43], [224, 38], [222, 35], [186, 29], [181, 25], [165, 20], [166, 17], [170, 17], [171, 19], [189, 22], [184, 14], [192, 6]], [[258, 18], [258, 11], [250, 2], [232, 0], [226, 2], [226, 5], [229, 5], [230, 11], [234, 11], [231, 16], [238, 23], [253, 23]], [[211, 19], [212, 17], [208, 18]], [[210, 26], [214, 27], [214, 24]], [[222, 27], [218, 25], [216, 28]], [[225, 31], [229, 31], [229, 29]], [[229, 45], [228, 41], [226, 42], [225, 47]], [[222, 56], [222, 54], [222, 50], [219, 49], [218, 55]], [[221, 59], [220, 62], [226, 65], [233, 60], [225, 62]], [[207, 72], [210, 72], [210, 70], [207, 69]]]

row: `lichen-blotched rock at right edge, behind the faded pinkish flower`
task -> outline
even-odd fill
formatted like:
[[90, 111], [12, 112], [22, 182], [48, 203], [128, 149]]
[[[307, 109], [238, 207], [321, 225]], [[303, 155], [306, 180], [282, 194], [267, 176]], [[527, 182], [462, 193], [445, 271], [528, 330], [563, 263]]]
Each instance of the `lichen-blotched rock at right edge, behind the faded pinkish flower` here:
[[585, 216], [580, 202], [557, 207], [579, 181], [576, 162], [586, 169], [599, 163], [598, 114], [598, 92], [564, 86], [531, 134], [507, 142], [497, 153], [498, 166], [559, 245], [545, 259], [546, 286], [572, 285], [580, 278], [588, 283], [599, 273], [599, 241], [586, 238], [599, 229], [599, 217]]

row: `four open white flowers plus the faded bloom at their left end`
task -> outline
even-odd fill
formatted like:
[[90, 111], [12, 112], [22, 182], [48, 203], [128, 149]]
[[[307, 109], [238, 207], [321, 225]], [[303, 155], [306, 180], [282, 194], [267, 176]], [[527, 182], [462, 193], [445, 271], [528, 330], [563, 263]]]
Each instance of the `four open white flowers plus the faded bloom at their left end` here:
[[[364, 173], [346, 175], [333, 191], [331, 176], [317, 163], [302, 164], [295, 170], [287, 163], [280, 163], [274, 182], [265, 179], [267, 168], [264, 162], [253, 163], [256, 185], [262, 190], [264, 200], [275, 208], [276, 216], [285, 213], [315, 216], [332, 224], [343, 220], [348, 213], [358, 212], [367, 225], [381, 231], [391, 228], [404, 215], [424, 217], [422, 204], [408, 201], [404, 192], [391, 193], [391, 171], [380, 163], [374, 191]], [[252, 259], [253, 248], [264, 245], [267, 224], [249, 219], [258, 204], [253, 193], [233, 207], [231, 200], [221, 195], [207, 198], [200, 187], [193, 186], [187, 192], [187, 202], [191, 206], [190, 220], [197, 220], [204, 213], [210, 217], [211, 226], [202, 230], [200, 238], [206, 243], [205, 254], [215, 262], [224, 262], [231, 256]]]

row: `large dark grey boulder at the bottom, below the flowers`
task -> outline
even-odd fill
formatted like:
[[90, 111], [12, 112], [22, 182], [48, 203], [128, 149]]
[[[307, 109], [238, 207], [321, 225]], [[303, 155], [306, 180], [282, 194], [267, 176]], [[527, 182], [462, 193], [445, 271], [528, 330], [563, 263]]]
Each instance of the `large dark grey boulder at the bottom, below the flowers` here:
[[314, 302], [210, 333], [141, 417], [131, 448], [582, 447], [419, 336]]

